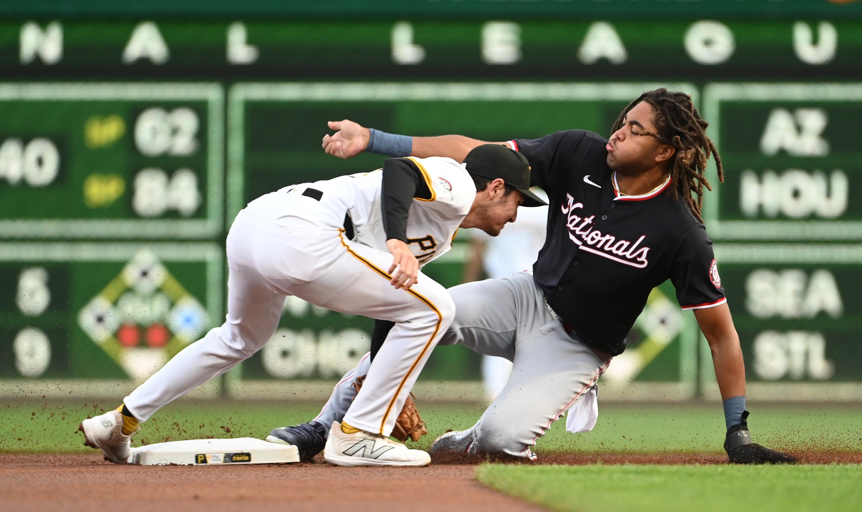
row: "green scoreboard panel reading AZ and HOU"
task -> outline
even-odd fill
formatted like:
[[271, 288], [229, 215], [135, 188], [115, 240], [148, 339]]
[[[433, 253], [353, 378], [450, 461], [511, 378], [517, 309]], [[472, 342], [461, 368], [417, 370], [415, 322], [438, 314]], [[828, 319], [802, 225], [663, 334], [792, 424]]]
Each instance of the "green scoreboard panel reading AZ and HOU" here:
[[714, 240], [862, 240], [862, 84], [709, 84], [703, 103]]

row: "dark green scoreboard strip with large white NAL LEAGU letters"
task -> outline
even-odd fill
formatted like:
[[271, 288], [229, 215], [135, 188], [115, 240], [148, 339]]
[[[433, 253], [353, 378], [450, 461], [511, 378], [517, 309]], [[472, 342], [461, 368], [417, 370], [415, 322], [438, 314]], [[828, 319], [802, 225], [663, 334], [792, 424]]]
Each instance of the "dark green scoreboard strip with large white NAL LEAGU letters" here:
[[[505, 3], [505, 0], [476, 1], [486, 5]], [[603, 3], [632, 6], [644, 1], [603, 0]], [[753, 1], [776, 3], [776, 0], [750, 0]], [[827, 3], [827, 0], [806, 1]], [[565, 4], [556, 0], [553, 3]], [[577, 3], [583, 2], [569, 4]], [[688, 9], [694, 4], [684, 5]], [[848, 7], [860, 9], [859, 5]], [[0, 13], [2, 9], [0, 6]], [[223, 20], [205, 20], [199, 16], [134, 21], [3, 20], [0, 71], [31, 79], [94, 80], [122, 76], [134, 80], [217, 78], [230, 82], [297, 79], [708, 82], [846, 80], [862, 75], [859, 15], [856, 19], [826, 20], [798, 18], [791, 13], [779, 19], [771, 16], [719, 20], [714, 17], [537, 20], [506, 18], [503, 13], [480, 19], [402, 16], [369, 19], [342, 15], [301, 20], [244, 19], [245, 16]]]

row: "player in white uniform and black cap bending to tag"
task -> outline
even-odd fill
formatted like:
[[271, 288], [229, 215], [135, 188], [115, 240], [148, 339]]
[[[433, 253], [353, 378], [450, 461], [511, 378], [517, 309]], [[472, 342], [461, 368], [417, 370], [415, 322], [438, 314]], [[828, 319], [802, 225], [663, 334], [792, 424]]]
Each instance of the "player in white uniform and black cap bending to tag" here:
[[454, 316], [447, 290], [420, 269], [452, 247], [459, 227], [498, 234], [515, 221], [519, 205], [544, 204], [528, 187], [527, 159], [486, 145], [464, 164], [387, 159], [374, 172], [292, 185], [248, 203], [226, 244], [226, 322], [184, 348], [116, 410], [82, 421], [85, 444], [125, 462], [140, 422], [264, 347], [284, 297], [295, 295], [395, 322], [347, 414], [328, 426], [327, 461], [428, 465], [428, 453], [388, 439]]

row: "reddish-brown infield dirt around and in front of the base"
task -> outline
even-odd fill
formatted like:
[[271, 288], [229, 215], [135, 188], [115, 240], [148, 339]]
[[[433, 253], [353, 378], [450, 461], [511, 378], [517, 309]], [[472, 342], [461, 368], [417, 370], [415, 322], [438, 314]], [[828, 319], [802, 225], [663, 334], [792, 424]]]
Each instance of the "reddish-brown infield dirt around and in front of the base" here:
[[[796, 453], [803, 463], [862, 463], [862, 453]], [[97, 454], [0, 453], [3, 508], [88, 510], [404, 509], [540, 510], [473, 479], [480, 459], [434, 459], [427, 468], [341, 468], [326, 464], [114, 465]], [[720, 454], [553, 453], [541, 464], [726, 464]]]

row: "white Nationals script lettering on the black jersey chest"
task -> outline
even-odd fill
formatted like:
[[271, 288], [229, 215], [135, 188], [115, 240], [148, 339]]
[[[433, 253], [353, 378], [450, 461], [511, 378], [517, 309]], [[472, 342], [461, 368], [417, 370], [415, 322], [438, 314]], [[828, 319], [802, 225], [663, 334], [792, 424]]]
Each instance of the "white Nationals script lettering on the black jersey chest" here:
[[623, 265], [637, 268], [647, 266], [649, 263], [647, 261], [649, 247], [638, 247], [640, 246], [640, 242], [647, 238], [646, 234], [640, 235], [640, 238], [634, 244], [628, 240], [616, 240], [614, 235], [603, 234], [594, 226], [590, 226], [596, 215], [580, 217], [575, 213], [576, 209], [584, 208], [584, 203], [575, 203], [575, 198], [571, 194], [566, 194], [565, 197], [568, 200], [568, 204], [563, 205], [561, 208], [563, 214], [568, 215], [565, 226], [569, 228], [569, 238], [578, 244], [578, 247], [588, 253], [613, 259]]

